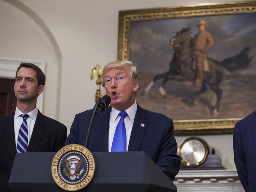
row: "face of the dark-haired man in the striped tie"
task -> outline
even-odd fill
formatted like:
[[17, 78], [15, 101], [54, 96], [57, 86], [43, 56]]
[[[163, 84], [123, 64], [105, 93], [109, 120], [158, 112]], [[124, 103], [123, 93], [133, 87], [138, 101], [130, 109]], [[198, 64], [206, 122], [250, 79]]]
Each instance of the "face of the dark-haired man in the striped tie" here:
[[37, 100], [43, 91], [43, 85], [38, 86], [35, 70], [21, 67], [18, 70], [14, 84], [15, 96], [19, 101]]

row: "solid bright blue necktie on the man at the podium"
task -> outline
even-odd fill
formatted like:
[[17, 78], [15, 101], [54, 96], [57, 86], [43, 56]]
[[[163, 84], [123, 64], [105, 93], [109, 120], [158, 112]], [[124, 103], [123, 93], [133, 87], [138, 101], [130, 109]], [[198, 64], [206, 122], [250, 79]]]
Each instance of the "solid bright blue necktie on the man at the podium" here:
[[119, 116], [121, 116], [121, 119], [116, 126], [111, 152], [126, 151], [126, 130], [124, 118], [127, 116], [127, 113], [125, 111], [121, 111]]

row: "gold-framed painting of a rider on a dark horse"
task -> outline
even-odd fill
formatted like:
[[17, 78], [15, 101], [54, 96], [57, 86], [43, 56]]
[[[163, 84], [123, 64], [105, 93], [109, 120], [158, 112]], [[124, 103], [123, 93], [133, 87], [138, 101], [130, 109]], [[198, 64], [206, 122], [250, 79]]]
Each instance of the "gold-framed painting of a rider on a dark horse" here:
[[[118, 60], [138, 68], [139, 105], [173, 119], [175, 135], [232, 133], [256, 110], [255, 18], [256, 1], [120, 11]], [[214, 43], [196, 87], [202, 22]]]

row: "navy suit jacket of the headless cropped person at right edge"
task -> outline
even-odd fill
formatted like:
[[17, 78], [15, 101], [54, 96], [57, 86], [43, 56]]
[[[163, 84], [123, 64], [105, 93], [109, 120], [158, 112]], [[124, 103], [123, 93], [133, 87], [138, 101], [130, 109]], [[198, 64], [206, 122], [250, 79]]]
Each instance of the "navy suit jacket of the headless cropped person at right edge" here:
[[256, 191], [256, 111], [235, 124], [234, 161], [245, 191]]

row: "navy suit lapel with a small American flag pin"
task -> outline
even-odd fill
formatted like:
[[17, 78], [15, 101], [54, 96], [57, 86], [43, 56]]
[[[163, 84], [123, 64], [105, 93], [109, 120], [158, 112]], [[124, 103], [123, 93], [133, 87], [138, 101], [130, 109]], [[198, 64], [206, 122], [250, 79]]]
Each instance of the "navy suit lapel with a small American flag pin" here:
[[146, 119], [147, 117], [144, 113], [144, 110], [140, 106], [138, 106], [132, 126], [128, 151], [138, 151], [140, 149], [142, 139], [148, 126], [148, 123], [145, 121]]

